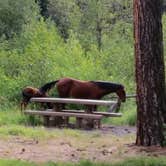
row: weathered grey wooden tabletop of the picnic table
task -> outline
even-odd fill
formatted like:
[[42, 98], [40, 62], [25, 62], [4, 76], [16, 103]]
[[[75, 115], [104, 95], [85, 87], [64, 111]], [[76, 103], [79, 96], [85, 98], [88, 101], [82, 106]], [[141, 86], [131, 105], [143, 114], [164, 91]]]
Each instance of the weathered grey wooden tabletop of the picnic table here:
[[117, 101], [107, 100], [90, 100], [90, 99], [73, 99], [73, 98], [46, 98], [36, 97], [31, 98], [31, 102], [44, 102], [44, 103], [65, 103], [65, 104], [84, 104], [84, 105], [112, 105]]

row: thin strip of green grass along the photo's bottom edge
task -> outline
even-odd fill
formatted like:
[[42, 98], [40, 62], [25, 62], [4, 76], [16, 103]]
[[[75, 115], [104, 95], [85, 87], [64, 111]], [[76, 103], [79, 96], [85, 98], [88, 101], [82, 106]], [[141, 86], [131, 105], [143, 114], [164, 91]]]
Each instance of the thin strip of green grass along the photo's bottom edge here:
[[133, 158], [116, 163], [94, 163], [91, 161], [80, 161], [79, 163], [54, 163], [47, 162], [35, 164], [20, 160], [0, 159], [0, 166], [166, 166], [166, 159], [160, 158]]

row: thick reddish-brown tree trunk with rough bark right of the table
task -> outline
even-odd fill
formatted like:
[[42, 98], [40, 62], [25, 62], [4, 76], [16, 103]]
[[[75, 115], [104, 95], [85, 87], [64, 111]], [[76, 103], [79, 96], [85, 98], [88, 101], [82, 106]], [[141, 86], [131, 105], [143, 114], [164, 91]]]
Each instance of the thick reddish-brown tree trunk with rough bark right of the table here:
[[137, 82], [136, 145], [162, 145], [165, 116], [165, 72], [162, 0], [134, 0]]

